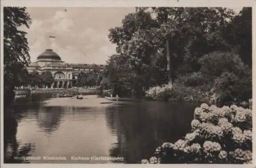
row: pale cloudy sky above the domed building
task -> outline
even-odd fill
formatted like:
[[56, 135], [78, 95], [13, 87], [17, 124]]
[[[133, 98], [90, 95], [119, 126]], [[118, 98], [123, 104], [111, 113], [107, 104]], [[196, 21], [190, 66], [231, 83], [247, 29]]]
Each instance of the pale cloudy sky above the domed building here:
[[109, 29], [120, 26], [124, 16], [135, 8], [37, 7], [27, 11], [32, 19], [26, 30], [32, 62], [46, 49], [52, 49], [68, 63], [105, 64], [116, 52], [108, 38]]

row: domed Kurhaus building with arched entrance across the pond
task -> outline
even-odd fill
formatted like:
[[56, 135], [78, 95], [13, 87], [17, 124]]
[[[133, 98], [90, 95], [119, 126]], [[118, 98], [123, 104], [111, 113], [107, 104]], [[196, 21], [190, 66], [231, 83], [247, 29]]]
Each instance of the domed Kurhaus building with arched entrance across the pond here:
[[65, 63], [52, 49], [47, 49], [37, 57], [36, 62], [31, 62], [28, 71], [32, 73], [36, 70], [39, 74], [50, 71], [54, 77], [51, 88], [71, 88], [80, 73], [86, 73], [93, 69], [101, 71], [104, 67], [105, 65], [99, 64]]

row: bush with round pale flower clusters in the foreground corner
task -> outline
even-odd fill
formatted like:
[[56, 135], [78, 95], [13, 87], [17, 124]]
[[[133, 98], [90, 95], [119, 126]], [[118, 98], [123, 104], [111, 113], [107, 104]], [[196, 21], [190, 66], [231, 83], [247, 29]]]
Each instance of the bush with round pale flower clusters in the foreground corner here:
[[202, 104], [194, 112], [191, 132], [158, 147], [141, 163], [251, 163], [252, 110]]

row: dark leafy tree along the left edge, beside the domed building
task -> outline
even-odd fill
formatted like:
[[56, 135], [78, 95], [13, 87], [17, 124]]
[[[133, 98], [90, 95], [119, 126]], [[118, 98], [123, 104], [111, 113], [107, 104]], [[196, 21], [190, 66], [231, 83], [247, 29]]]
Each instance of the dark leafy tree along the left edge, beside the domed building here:
[[26, 78], [26, 66], [30, 63], [26, 32], [31, 18], [26, 8], [4, 7], [4, 101], [7, 105], [14, 98], [15, 86], [20, 86]]

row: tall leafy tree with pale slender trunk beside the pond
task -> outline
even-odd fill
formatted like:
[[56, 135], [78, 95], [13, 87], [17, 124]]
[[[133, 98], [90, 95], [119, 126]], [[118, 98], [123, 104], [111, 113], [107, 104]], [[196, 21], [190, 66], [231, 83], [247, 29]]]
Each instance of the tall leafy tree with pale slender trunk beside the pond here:
[[[108, 62], [107, 69], [117, 69], [111, 68], [110, 81], [143, 94], [149, 86], [198, 71], [205, 54], [230, 51], [222, 35], [232, 18], [233, 11], [226, 8], [136, 8], [121, 27], [110, 29], [110, 41], [117, 44], [117, 55], [111, 56], [117, 61]], [[130, 79], [120, 83], [115, 79], [124, 69]]]

